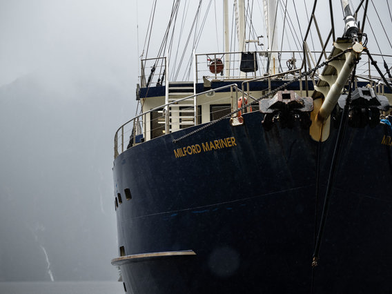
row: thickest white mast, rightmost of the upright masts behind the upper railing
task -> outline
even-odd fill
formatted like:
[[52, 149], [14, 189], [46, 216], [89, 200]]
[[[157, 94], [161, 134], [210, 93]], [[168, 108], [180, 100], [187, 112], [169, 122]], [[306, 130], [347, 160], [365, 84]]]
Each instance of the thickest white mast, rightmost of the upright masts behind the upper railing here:
[[[277, 0], [264, 0], [264, 14], [268, 38], [268, 73], [275, 75], [279, 73], [279, 57], [277, 55]], [[275, 52], [273, 52], [275, 51]]]

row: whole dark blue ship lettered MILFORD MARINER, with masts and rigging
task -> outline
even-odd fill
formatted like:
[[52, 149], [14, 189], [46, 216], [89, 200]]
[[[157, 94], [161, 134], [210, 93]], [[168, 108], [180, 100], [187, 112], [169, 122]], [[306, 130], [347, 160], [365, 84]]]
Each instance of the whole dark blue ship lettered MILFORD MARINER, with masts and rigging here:
[[223, 1], [224, 50], [191, 52], [178, 81], [173, 1], [166, 43], [141, 57], [137, 115], [115, 134], [124, 291], [392, 291], [392, 56], [369, 19], [389, 6], [304, 4], [286, 50], [278, 28], [300, 20], [287, 1], [262, 1], [265, 37], [249, 32], [249, 1]]

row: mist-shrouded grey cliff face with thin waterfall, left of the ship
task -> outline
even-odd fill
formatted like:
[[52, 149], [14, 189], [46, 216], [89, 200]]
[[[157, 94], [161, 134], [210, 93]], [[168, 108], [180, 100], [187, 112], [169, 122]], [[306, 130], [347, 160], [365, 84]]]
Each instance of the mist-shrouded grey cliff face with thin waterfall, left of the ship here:
[[0, 280], [117, 279], [112, 138], [129, 90], [56, 73], [0, 88]]

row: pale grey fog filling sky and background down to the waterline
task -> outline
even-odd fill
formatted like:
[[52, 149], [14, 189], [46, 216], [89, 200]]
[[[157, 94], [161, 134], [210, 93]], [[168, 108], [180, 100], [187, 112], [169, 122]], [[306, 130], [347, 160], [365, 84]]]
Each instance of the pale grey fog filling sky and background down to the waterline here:
[[0, 281], [119, 277], [113, 139], [135, 114], [151, 2], [0, 0]]

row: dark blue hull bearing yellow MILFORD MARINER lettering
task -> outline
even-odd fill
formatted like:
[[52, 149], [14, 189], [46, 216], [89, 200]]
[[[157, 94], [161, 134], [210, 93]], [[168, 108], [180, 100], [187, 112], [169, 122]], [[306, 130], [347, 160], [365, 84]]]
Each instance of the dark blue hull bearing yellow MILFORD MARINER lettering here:
[[[244, 119], [173, 144], [199, 126], [187, 128], [115, 159], [121, 255], [195, 253], [124, 259], [128, 292], [310, 293], [337, 130], [320, 148], [317, 185], [317, 142], [308, 130], [265, 131], [259, 112]], [[392, 147], [384, 136], [391, 129], [381, 124], [346, 129], [315, 293], [392, 291]]]

